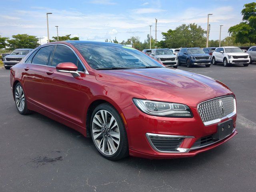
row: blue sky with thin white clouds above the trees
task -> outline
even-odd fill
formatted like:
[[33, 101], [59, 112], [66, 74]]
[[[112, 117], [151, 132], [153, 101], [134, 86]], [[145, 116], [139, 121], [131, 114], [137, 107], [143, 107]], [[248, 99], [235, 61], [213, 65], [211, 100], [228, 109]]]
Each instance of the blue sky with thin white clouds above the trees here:
[[210, 40], [222, 39], [228, 28], [242, 22], [241, 10], [248, 0], [1, 0], [0, 36], [29, 34], [47, 42], [46, 13], [49, 16], [50, 38], [71, 34], [80, 40], [118, 42], [139, 36], [144, 42], [150, 33], [157, 40], [162, 32], [181, 24], [196, 23], [207, 28], [210, 16]]

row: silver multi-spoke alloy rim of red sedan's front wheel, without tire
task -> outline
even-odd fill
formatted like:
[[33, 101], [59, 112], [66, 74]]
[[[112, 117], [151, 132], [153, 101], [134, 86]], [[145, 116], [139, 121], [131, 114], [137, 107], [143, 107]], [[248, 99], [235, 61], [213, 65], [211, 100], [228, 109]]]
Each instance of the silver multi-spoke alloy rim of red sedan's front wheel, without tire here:
[[97, 148], [105, 155], [113, 155], [120, 144], [120, 131], [114, 116], [99, 110], [93, 117], [92, 135]]

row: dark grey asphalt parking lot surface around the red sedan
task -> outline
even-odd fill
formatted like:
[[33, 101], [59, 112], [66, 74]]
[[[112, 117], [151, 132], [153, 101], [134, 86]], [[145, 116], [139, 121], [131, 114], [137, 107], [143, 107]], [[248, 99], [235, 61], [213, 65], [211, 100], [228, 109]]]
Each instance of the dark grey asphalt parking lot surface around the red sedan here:
[[1, 192], [212, 192], [256, 189], [256, 64], [179, 69], [224, 82], [236, 94], [238, 134], [193, 158], [104, 159], [90, 138], [38, 113], [22, 116], [0, 69]]

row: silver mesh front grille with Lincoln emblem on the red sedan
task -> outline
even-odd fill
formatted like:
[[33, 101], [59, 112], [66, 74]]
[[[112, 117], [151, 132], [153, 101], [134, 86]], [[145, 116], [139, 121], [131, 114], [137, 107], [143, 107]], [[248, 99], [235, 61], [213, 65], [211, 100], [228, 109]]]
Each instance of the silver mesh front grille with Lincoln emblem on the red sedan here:
[[234, 97], [224, 96], [208, 100], [200, 103], [197, 109], [203, 122], [216, 120], [234, 112]]

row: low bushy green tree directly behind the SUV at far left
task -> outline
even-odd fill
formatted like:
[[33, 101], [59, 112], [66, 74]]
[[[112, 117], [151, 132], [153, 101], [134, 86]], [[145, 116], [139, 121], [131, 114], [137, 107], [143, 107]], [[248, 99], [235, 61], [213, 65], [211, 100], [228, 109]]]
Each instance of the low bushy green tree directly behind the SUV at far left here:
[[30, 48], [34, 49], [40, 44], [38, 43], [38, 38], [36, 36], [28, 35], [28, 34], [18, 34], [13, 35], [12, 39], [8, 39], [9, 50], [14, 50], [18, 48]]

